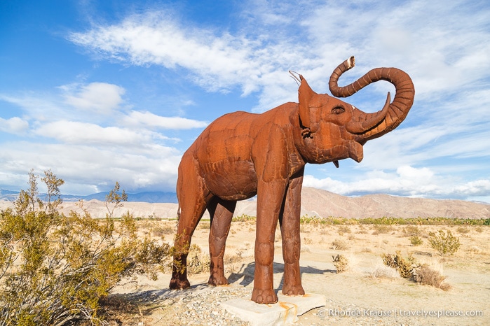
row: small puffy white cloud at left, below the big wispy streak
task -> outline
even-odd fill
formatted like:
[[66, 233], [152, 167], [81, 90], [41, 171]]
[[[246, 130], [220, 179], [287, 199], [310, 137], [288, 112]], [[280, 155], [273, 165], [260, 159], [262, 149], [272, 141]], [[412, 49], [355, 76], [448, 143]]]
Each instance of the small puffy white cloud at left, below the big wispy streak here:
[[123, 102], [123, 87], [108, 83], [90, 83], [88, 85], [65, 85], [66, 103], [82, 110], [97, 113], [111, 113]]

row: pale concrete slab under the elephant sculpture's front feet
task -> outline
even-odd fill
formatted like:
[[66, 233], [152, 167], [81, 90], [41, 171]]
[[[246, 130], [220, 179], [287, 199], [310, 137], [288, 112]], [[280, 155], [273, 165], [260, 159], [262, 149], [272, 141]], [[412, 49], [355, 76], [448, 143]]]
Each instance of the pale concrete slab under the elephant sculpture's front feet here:
[[324, 295], [306, 294], [290, 297], [278, 293], [277, 304], [256, 304], [250, 299], [222, 302], [223, 308], [251, 325], [292, 325], [311, 309], [325, 306]]

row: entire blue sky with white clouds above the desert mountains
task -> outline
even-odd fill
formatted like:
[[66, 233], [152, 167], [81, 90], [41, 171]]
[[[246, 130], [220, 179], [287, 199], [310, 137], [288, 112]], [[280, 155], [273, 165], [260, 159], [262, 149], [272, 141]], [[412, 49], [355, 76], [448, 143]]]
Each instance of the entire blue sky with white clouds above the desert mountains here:
[[[1, 1], [0, 188], [51, 169], [66, 194], [173, 191], [182, 153], [232, 111], [297, 101], [287, 71], [328, 93], [395, 66], [407, 119], [356, 163], [308, 165], [304, 185], [490, 202], [488, 1]], [[393, 87], [346, 99], [378, 111]]]

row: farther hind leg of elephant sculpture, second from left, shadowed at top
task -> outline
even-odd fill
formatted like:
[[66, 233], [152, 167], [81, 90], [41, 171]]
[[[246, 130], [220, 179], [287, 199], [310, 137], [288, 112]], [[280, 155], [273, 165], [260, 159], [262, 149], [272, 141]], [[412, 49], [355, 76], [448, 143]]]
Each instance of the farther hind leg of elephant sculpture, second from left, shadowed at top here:
[[228, 280], [224, 277], [224, 250], [226, 238], [230, 231], [231, 218], [235, 211], [236, 201], [223, 199], [212, 200], [207, 206], [211, 215], [210, 230], [210, 285], [226, 285]]

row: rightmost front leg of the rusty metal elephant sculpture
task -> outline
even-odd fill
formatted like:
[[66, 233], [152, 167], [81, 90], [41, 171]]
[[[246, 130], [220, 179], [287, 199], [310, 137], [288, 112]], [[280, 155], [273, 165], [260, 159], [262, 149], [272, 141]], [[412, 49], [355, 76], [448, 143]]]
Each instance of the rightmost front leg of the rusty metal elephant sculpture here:
[[299, 255], [301, 252], [299, 219], [301, 214], [303, 171], [301, 171], [301, 176], [290, 180], [290, 185], [286, 191], [284, 213], [280, 219], [280, 229], [283, 237], [284, 295], [304, 295], [299, 271]]

